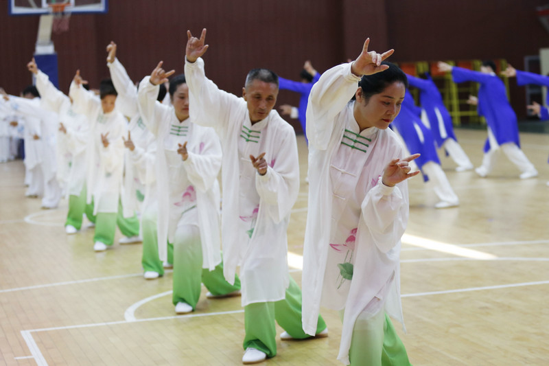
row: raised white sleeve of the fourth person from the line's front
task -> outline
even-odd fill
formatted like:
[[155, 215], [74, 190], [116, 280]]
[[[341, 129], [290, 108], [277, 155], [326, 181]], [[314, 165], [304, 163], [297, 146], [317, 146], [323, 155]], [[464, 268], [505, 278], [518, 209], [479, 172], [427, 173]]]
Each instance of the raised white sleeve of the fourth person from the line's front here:
[[137, 113], [137, 88], [118, 58], [115, 58], [113, 62], [107, 62], [107, 67], [110, 71], [110, 79], [113, 80], [118, 93], [117, 109], [126, 117], [131, 118]]

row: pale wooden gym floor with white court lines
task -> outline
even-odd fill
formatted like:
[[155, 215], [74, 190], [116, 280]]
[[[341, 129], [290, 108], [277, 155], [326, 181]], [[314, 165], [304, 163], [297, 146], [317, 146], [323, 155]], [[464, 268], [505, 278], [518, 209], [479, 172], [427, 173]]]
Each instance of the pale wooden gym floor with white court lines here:
[[[474, 165], [485, 131], [457, 130]], [[549, 139], [522, 133], [539, 177], [522, 181], [500, 157], [487, 179], [442, 166], [460, 207], [434, 209], [421, 176], [410, 181], [401, 287], [413, 365], [549, 365]], [[289, 260], [301, 284], [307, 154], [299, 137], [301, 194]], [[63, 230], [67, 202], [41, 210], [25, 198], [23, 163], [0, 164], [0, 365], [242, 365], [240, 298], [202, 298], [176, 316], [172, 273], [145, 281], [141, 244], [93, 251], [93, 229]], [[116, 240], [120, 238], [117, 233]], [[322, 311], [329, 337], [278, 341], [261, 365], [341, 365], [338, 314]], [[280, 333], [282, 330], [278, 328]]]

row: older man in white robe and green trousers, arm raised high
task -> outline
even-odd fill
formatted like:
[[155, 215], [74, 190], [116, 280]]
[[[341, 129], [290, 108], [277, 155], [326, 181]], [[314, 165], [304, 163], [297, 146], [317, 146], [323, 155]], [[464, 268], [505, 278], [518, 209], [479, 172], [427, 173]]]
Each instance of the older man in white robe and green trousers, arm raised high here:
[[[275, 319], [283, 339], [305, 339], [301, 329], [301, 290], [288, 273], [290, 211], [299, 192], [295, 132], [272, 109], [278, 77], [266, 69], [248, 73], [243, 98], [226, 93], [207, 79], [206, 30], [200, 39], [187, 31], [185, 77], [191, 120], [213, 126], [223, 148], [222, 246], [227, 281], [240, 266], [244, 306], [244, 356], [258, 363], [277, 352]], [[318, 318], [318, 336], [327, 336]]]

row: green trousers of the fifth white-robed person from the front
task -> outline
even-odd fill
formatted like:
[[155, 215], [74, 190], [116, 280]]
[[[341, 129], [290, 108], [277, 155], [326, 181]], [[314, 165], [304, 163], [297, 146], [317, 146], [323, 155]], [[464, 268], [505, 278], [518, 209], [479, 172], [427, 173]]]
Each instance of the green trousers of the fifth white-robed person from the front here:
[[116, 227], [124, 236], [139, 235], [139, 218], [137, 215], [130, 218], [124, 218], [122, 203], [118, 201], [118, 212], [97, 212], [95, 216], [95, 235], [93, 242], [102, 242], [106, 245], [113, 245], [115, 242]]

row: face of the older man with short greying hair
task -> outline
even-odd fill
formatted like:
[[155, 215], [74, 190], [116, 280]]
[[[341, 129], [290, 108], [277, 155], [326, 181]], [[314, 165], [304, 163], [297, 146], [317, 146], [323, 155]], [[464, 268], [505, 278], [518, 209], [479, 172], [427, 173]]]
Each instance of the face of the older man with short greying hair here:
[[277, 103], [279, 88], [272, 82], [253, 80], [248, 87], [242, 89], [242, 97], [248, 104], [250, 121], [254, 124], [265, 119], [274, 104]]

